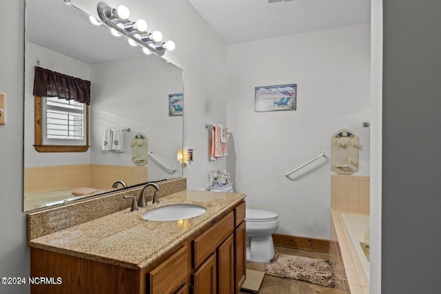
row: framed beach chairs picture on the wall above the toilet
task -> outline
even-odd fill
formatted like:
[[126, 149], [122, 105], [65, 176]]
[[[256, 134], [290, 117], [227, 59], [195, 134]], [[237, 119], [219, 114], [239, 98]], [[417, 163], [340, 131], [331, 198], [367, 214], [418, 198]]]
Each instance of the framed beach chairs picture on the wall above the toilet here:
[[254, 112], [296, 110], [297, 84], [256, 87]]

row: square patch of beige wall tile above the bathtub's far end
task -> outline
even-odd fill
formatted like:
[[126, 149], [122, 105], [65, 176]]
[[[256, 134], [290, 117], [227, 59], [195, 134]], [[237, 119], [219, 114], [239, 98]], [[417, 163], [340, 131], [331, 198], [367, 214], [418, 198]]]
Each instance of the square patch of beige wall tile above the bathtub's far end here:
[[369, 213], [368, 176], [331, 176], [331, 209]]

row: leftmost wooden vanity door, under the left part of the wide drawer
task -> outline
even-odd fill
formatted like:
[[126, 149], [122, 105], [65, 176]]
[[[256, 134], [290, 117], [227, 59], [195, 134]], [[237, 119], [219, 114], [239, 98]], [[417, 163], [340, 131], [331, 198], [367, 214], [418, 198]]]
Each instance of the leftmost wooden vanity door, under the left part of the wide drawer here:
[[216, 294], [216, 253], [192, 275], [194, 294]]

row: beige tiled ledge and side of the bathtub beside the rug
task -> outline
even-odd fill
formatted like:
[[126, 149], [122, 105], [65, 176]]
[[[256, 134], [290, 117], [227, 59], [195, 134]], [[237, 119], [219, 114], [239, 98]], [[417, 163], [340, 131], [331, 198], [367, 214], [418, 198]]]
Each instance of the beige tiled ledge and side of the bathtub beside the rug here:
[[[331, 209], [331, 257], [335, 264], [338, 264], [336, 280], [341, 288], [340, 293], [369, 294], [368, 279], [360, 265], [358, 254], [351, 244], [341, 213], [346, 213], [346, 211]], [[367, 213], [360, 214], [367, 215]]]

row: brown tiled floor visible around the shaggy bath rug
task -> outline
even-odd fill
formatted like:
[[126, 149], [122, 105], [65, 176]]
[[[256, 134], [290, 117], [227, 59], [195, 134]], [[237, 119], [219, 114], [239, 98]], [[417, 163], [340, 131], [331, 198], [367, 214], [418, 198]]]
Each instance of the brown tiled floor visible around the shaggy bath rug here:
[[[299, 249], [290, 249], [280, 246], [275, 246], [280, 253], [289, 255], [305, 256], [307, 258], [320, 258], [329, 260], [328, 253], [321, 253], [316, 251], [306, 251]], [[247, 269], [254, 271], [265, 271], [265, 263], [262, 262], [247, 262]], [[241, 291], [240, 293], [249, 294], [249, 292]], [[284, 277], [272, 277], [265, 275], [263, 282], [260, 285], [258, 294], [337, 294], [336, 288], [329, 288], [303, 282], [298, 280], [287, 279]]]

